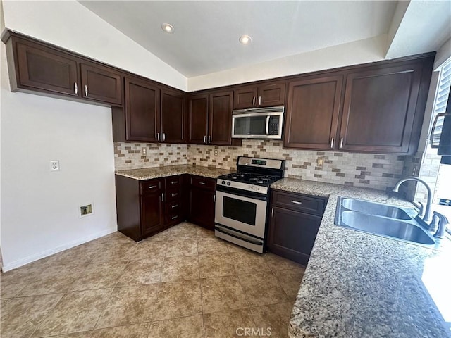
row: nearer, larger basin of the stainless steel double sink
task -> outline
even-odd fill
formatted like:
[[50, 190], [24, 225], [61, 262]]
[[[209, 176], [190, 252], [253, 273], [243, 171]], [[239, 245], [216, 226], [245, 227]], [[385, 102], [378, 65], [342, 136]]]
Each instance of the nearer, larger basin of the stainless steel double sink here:
[[435, 244], [434, 239], [419, 225], [390, 218], [382, 218], [355, 211], [343, 211], [341, 224], [354, 230], [378, 234], [383, 237], [393, 237], [407, 242], [419, 244]]

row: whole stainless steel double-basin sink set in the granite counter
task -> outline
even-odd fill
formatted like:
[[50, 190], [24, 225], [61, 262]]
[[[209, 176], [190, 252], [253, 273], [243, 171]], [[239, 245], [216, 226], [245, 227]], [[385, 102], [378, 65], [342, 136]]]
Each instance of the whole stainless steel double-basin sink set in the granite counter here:
[[426, 224], [416, 213], [414, 208], [339, 196], [335, 225], [401, 242], [434, 246], [434, 237], [424, 229]]

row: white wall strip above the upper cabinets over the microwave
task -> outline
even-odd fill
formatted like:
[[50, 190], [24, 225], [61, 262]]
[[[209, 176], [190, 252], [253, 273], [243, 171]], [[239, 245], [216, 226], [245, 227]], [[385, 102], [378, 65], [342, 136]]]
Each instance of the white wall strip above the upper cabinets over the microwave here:
[[387, 35], [380, 35], [370, 39], [278, 58], [247, 67], [238, 67], [218, 73], [190, 77], [188, 79], [188, 91], [194, 92], [200, 89], [221, 87], [229, 84], [381, 61], [385, 56], [386, 44]]

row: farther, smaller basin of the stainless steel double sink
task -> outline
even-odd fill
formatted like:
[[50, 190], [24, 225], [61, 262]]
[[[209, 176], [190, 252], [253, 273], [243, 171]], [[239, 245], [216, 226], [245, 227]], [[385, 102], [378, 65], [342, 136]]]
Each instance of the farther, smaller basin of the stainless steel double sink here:
[[371, 201], [364, 201], [362, 199], [340, 199], [341, 206], [359, 213], [368, 213], [370, 215], [379, 215], [388, 218], [396, 218], [398, 220], [411, 220], [412, 217], [408, 215], [402, 208], [397, 206], [388, 206]]

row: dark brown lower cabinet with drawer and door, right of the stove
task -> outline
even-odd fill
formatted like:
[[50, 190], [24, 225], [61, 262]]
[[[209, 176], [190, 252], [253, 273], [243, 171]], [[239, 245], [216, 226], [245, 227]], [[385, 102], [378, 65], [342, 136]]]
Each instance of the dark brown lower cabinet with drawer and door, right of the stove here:
[[326, 199], [323, 198], [273, 191], [269, 251], [307, 265], [325, 205]]

